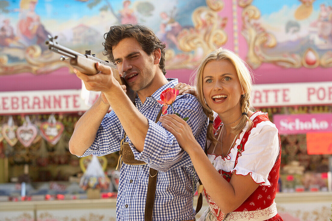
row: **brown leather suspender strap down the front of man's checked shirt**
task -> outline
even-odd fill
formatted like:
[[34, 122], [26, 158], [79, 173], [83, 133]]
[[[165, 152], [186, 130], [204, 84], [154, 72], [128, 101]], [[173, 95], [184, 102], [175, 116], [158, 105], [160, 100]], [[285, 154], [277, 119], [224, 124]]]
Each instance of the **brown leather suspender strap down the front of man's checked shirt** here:
[[[161, 116], [161, 111], [159, 111], [156, 123], [159, 121], [159, 117]], [[157, 175], [158, 171], [150, 168], [149, 171], [149, 182], [147, 184], [147, 193], [146, 193], [146, 201], [145, 201], [145, 210], [144, 210], [144, 221], [152, 221], [152, 213], [154, 206], [154, 196], [156, 194], [157, 187]]]

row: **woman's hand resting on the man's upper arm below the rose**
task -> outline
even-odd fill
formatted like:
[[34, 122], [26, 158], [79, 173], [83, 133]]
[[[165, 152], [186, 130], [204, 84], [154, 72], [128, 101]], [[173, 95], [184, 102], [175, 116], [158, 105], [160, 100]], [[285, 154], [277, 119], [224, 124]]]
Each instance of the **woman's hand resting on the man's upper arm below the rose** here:
[[[165, 127], [166, 130], [171, 132], [179, 145], [189, 153], [196, 141], [193, 131], [186, 121], [184, 121], [181, 117], [176, 114], [165, 114], [160, 116], [159, 121], [161, 125]], [[198, 145], [200, 147], [200, 145]]]

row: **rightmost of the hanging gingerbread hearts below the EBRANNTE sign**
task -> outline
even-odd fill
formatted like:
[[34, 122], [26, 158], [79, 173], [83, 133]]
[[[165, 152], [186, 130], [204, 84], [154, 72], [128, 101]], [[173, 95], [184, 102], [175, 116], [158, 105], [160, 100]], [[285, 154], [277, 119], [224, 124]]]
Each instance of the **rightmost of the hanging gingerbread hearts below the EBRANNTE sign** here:
[[43, 122], [41, 123], [40, 132], [41, 136], [51, 144], [56, 144], [63, 132], [64, 126], [60, 122], [49, 123]]

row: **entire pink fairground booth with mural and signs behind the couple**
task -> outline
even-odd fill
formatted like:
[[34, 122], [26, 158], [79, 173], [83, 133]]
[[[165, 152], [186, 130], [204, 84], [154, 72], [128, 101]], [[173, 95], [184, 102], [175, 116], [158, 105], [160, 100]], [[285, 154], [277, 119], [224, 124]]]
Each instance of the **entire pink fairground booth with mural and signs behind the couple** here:
[[[329, 1], [0, 2], [0, 220], [116, 220], [118, 154], [96, 160], [68, 150], [75, 123], [99, 94], [82, 99], [68, 60], [45, 40], [58, 35], [61, 45], [106, 60], [104, 33], [119, 23], [151, 27], [166, 43], [166, 77], [179, 82], [188, 83], [215, 48], [239, 54], [254, 72], [251, 104], [280, 132], [279, 214], [284, 221], [331, 218]], [[103, 177], [89, 182], [92, 165]]]

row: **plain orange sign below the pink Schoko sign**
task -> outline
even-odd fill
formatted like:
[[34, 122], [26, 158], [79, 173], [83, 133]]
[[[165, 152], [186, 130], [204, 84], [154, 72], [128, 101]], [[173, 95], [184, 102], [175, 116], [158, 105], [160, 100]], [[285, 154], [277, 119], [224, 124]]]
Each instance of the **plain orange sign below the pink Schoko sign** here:
[[332, 154], [332, 132], [307, 133], [308, 154]]

